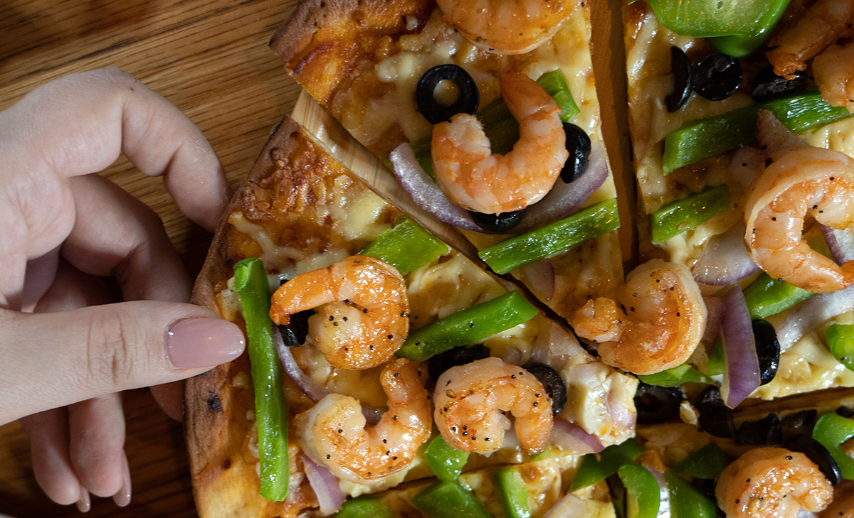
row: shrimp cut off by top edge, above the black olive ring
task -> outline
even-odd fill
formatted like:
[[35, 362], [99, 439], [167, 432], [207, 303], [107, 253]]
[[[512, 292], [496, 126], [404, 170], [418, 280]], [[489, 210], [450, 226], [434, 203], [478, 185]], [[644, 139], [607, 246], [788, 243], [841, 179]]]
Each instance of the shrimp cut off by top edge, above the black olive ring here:
[[490, 52], [524, 54], [558, 32], [575, 9], [570, 0], [437, 0], [445, 20]]

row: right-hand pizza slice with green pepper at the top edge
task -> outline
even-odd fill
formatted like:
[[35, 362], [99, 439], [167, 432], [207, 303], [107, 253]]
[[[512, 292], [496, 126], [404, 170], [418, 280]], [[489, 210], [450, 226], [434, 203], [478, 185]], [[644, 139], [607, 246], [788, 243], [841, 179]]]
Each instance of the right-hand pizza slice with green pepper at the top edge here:
[[839, 335], [854, 322], [854, 119], [821, 70], [852, 70], [834, 53], [854, 12], [808, 4], [624, 8], [640, 260], [679, 265], [707, 310], [690, 361], [647, 383], [711, 376], [730, 406], [854, 386]]

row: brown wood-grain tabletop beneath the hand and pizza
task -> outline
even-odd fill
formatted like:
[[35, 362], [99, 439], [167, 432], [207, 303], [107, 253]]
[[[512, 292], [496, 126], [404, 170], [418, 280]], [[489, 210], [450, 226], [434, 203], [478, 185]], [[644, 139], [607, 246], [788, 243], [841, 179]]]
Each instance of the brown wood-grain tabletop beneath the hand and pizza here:
[[[609, 3], [614, 9], [608, 9]], [[621, 0], [609, 3], [594, 3], [594, 25], [599, 27], [594, 67], [605, 137], [612, 142], [609, 154], [618, 174], [622, 164], [629, 164], [629, 144], [624, 138]], [[295, 0], [7, 0], [0, 5], [0, 110], [51, 79], [119, 66], [172, 101], [202, 129], [236, 187], [269, 129], [291, 112], [301, 91], [267, 49], [272, 32], [294, 4]], [[603, 27], [615, 30], [602, 31]], [[125, 158], [104, 175], [160, 214], [190, 273], [197, 273], [210, 235], [180, 213], [161, 180], [143, 176]], [[625, 178], [631, 192], [631, 176]], [[630, 221], [628, 210], [623, 207], [624, 221]], [[624, 247], [630, 252], [631, 232], [628, 235]], [[93, 497], [89, 515], [196, 516], [181, 425], [160, 412], [145, 390], [125, 394], [125, 412], [132, 503], [121, 509], [112, 499]], [[79, 515], [74, 506], [62, 507], [44, 497], [32, 476], [29, 442], [17, 423], [0, 427], [0, 514]]]

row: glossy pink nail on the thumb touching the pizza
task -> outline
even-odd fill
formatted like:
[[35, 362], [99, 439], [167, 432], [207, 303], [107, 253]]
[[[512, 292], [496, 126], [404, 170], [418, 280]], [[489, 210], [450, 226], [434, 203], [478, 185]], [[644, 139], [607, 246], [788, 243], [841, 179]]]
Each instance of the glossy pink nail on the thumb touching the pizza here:
[[240, 356], [245, 345], [243, 332], [228, 320], [178, 320], [166, 333], [169, 361], [179, 369], [223, 364]]

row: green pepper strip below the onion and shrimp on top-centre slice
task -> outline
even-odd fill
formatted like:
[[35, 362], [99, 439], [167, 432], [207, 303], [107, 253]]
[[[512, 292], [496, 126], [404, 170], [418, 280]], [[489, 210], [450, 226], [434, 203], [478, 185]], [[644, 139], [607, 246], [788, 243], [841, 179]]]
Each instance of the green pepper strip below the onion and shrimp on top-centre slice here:
[[617, 199], [606, 199], [559, 222], [501, 241], [477, 252], [477, 255], [500, 275], [569, 250], [582, 241], [594, 239], [619, 227]]

